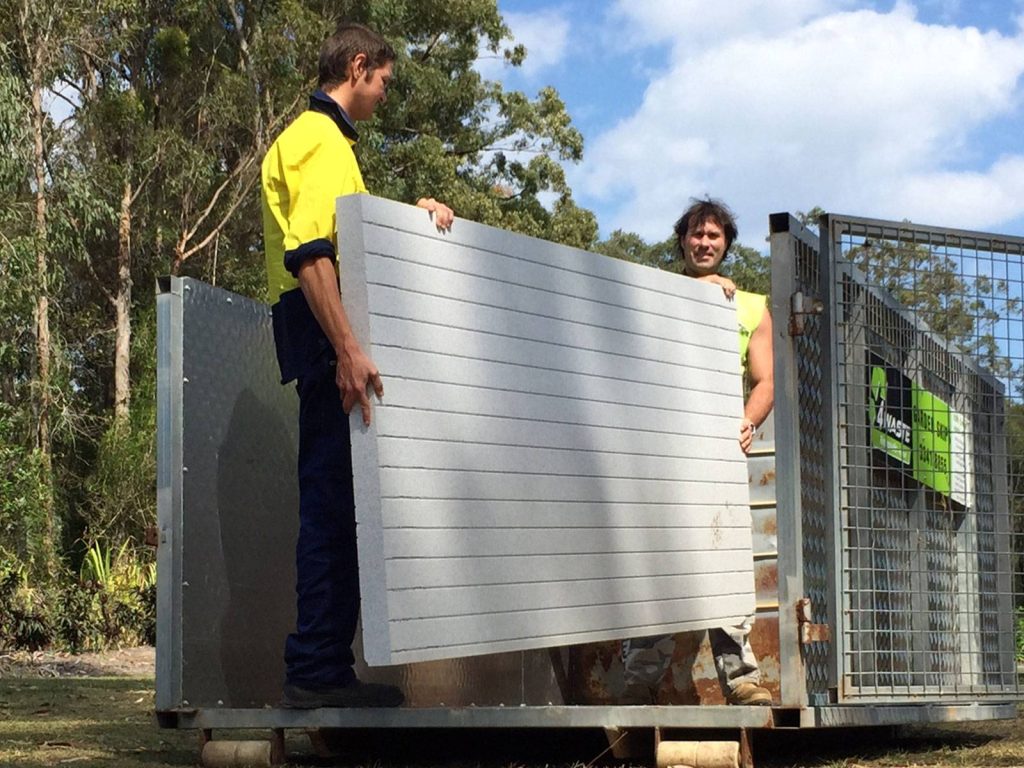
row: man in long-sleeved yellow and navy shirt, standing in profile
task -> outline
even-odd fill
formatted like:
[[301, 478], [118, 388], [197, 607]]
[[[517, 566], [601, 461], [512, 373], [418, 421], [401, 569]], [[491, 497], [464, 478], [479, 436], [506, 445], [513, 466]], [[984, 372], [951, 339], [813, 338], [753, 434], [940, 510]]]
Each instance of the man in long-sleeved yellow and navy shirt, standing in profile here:
[[[335, 201], [365, 193], [352, 145], [354, 123], [387, 97], [394, 50], [361, 25], [341, 25], [321, 48], [318, 88], [267, 152], [262, 167], [263, 238], [282, 383], [299, 393], [297, 616], [285, 645], [288, 707], [397, 707], [394, 686], [352, 671], [359, 611], [358, 563], [347, 414], [369, 425], [380, 372], [359, 346], [338, 285]], [[417, 205], [439, 229], [452, 210]]]

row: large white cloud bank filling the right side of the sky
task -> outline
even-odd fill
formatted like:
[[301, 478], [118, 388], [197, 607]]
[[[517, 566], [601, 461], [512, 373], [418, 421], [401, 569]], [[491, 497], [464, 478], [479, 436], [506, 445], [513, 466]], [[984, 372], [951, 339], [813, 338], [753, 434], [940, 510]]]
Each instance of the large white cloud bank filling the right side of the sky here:
[[[971, 227], [1024, 215], [1024, 156], [992, 163], [977, 143], [1021, 109], [1024, 33], [925, 25], [906, 2], [888, 13], [837, 11], [849, 5], [838, 0], [795, 0], [785, 12], [721, 3], [711, 22], [695, 5], [618, 7], [674, 47], [639, 110], [570, 172], [578, 193], [618, 203], [603, 230], [664, 238], [705, 194], [736, 210], [754, 246], [769, 213], [814, 205]], [[717, 30], [728, 38], [709, 36]]]

